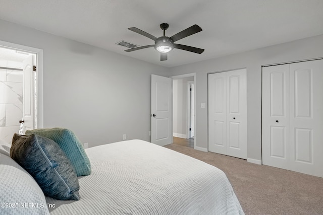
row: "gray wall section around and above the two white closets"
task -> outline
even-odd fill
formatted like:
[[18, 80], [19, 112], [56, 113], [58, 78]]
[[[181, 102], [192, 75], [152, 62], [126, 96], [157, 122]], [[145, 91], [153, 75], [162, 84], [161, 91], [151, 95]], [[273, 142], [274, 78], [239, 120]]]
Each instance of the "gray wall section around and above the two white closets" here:
[[247, 157], [261, 160], [261, 65], [320, 57], [323, 57], [323, 35], [171, 68], [172, 76], [196, 73], [197, 147], [207, 149], [207, 108], [200, 108], [200, 103], [207, 104], [208, 73], [247, 68]]

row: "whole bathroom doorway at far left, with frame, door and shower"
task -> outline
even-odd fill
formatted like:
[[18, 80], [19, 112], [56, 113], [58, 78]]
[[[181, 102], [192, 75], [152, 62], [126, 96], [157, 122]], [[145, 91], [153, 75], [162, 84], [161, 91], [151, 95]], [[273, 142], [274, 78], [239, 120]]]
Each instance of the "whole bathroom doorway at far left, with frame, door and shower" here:
[[0, 41], [0, 139], [8, 143], [14, 133], [42, 126], [42, 111], [40, 119], [37, 111], [42, 110], [42, 99], [37, 101], [37, 88], [42, 86], [38, 53], [42, 59], [40, 49]]

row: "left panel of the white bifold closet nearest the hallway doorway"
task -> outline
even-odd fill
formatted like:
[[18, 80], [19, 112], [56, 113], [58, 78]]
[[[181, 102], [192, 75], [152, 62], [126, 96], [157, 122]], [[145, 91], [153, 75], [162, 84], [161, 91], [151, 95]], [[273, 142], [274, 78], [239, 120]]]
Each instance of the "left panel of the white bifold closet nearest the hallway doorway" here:
[[208, 75], [208, 151], [227, 154], [227, 76]]

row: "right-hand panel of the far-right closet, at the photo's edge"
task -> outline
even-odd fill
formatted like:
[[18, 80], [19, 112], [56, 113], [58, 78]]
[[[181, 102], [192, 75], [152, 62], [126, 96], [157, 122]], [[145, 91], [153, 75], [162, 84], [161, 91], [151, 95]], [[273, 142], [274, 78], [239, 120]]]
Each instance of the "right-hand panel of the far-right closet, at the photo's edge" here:
[[323, 177], [323, 60], [290, 65], [290, 170]]

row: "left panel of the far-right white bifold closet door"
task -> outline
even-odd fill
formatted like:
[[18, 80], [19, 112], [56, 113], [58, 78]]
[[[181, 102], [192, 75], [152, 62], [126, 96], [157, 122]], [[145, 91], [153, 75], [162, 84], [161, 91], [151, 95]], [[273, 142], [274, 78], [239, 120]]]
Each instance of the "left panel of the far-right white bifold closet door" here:
[[262, 68], [262, 163], [289, 169], [289, 64]]

